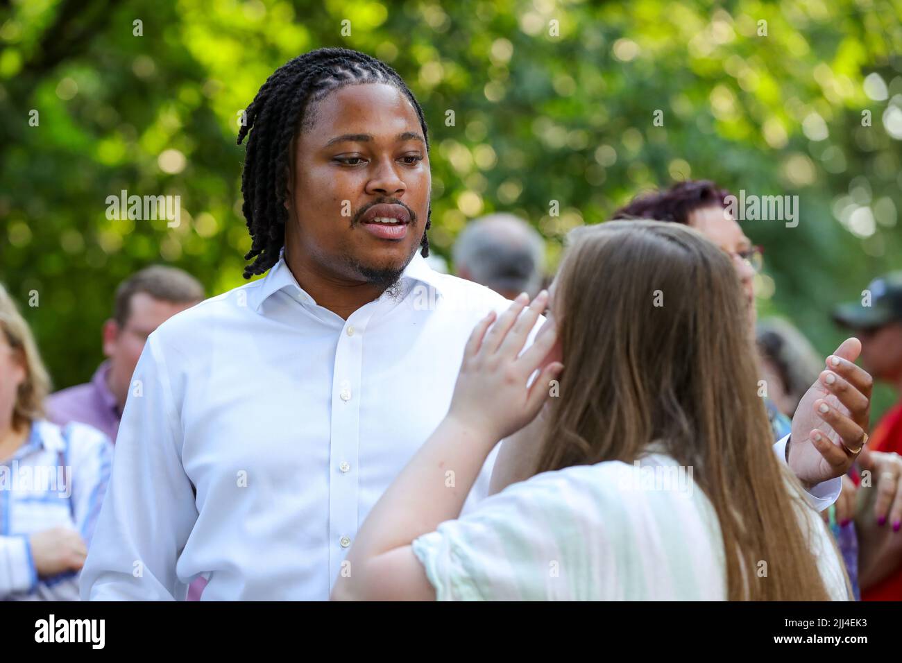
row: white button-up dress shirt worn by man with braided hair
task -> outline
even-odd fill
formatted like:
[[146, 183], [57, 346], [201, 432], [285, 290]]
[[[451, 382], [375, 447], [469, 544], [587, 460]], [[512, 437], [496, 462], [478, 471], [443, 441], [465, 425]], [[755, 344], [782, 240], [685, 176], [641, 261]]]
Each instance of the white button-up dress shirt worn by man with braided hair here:
[[327, 599], [445, 417], [475, 324], [509, 306], [419, 253], [400, 287], [343, 320], [282, 260], [163, 323], [133, 375], [82, 598], [184, 599], [204, 575], [205, 600]]

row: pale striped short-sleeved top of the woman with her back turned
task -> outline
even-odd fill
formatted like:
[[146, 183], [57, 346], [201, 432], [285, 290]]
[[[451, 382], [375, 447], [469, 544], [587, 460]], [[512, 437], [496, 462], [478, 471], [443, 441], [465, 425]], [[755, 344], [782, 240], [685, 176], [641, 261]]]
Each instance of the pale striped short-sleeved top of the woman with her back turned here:
[[[823, 521], [807, 505], [799, 518], [830, 595], [847, 600], [842, 561]], [[664, 455], [538, 474], [442, 523], [412, 548], [439, 601], [727, 595], [713, 506], [691, 472]]]

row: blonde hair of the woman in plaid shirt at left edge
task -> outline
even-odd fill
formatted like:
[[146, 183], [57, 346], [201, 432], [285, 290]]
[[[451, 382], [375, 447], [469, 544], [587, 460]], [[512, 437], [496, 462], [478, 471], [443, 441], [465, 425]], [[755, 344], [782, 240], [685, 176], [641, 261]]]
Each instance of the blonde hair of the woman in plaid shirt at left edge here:
[[0, 329], [25, 367], [25, 379], [19, 385], [13, 410], [13, 425], [19, 428], [44, 418], [44, 400], [51, 391], [51, 379], [41, 361], [32, 330], [3, 285], [0, 285]]

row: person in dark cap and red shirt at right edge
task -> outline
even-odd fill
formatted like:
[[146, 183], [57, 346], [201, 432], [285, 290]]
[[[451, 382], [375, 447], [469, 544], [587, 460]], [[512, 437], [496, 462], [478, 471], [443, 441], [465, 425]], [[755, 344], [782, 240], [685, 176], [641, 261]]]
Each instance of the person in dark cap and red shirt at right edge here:
[[[842, 304], [833, 319], [861, 339], [861, 364], [874, 378], [888, 382], [902, 394], [902, 272], [893, 272], [870, 282], [861, 300]], [[883, 463], [859, 458], [863, 469], [876, 474], [878, 493], [874, 511], [888, 513], [869, 518], [870, 510], [859, 510], [856, 525], [861, 546], [860, 582], [864, 601], [902, 600], [902, 491], [890, 498], [881, 491], [893, 481], [902, 483], [902, 399], [897, 401], [873, 430], [870, 456], [885, 456]], [[882, 454], [880, 453], [882, 452]], [[892, 476], [890, 476], [892, 475]], [[861, 503], [861, 501], [859, 501]], [[860, 522], [864, 519], [864, 522]], [[891, 528], [888, 525], [891, 523]], [[891, 529], [891, 531], [890, 531]]]

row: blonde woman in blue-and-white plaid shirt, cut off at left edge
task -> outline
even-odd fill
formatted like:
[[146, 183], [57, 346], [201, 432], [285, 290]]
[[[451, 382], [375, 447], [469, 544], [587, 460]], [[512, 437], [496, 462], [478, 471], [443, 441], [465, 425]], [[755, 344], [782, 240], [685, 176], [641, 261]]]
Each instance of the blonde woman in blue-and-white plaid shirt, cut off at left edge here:
[[45, 419], [50, 377], [0, 285], [0, 601], [78, 601], [113, 447], [95, 428]]

